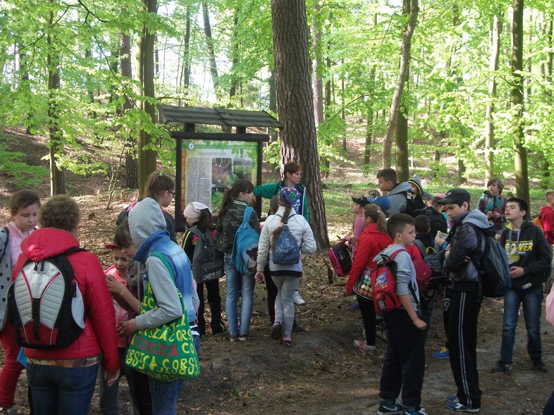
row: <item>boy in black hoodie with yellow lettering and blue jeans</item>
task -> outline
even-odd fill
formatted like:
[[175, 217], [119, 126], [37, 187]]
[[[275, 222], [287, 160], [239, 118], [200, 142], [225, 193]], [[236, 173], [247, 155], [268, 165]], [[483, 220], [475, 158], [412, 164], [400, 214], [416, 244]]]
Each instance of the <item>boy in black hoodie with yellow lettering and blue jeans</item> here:
[[512, 370], [515, 329], [519, 304], [522, 303], [531, 363], [538, 371], [548, 371], [542, 361], [541, 310], [543, 280], [550, 271], [552, 249], [541, 230], [527, 220], [528, 211], [523, 199], [512, 197], [507, 200], [505, 218], [512, 229], [503, 230], [500, 245], [506, 249], [512, 287], [504, 295], [500, 361], [493, 367], [493, 372], [497, 373]]

